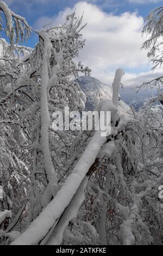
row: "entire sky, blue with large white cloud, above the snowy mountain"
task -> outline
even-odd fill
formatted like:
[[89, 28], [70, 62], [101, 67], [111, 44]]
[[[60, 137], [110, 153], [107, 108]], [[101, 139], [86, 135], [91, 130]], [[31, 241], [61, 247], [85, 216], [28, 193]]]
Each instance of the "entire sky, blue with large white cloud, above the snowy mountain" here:
[[[112, 83], [117, 68], [122, 68], [124, 86], [138, 85], [159, 76], [163, 70], [151, 71], [147, 52], [141, 50], [141, 31], [145, 17], [160, 7], [159, 0], [3, 0], [17, 14], [26, 17], [35, 29], [51, 23], [65, 22], [67, 14], [76, 9], [84, 11], [83, 30], [86, 44], [79, 59], [92, 69], [92, 76], [107, 84]], [[34, 46], [37, 37], [28, 44]]]

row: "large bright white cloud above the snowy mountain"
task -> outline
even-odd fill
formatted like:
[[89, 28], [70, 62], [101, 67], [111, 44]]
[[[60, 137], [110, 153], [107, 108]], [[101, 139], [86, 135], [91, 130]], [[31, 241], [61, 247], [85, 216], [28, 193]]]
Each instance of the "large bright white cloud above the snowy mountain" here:
[[143, 18], [137, 16], [137, 13], [126, 12], [116, 16], [104, 13], [97, 5], [78, 2], [72, 9], [66, 8], [57, 16], [41, 17], [35, 22], [35, 27], [40, 29], [48, 22], [53, 25], [62, 24], [66, 15], [74, 9], [77, 15], [82, 15], [84, 11], [83, 23], [87, 22], [83, 29], [86, 44], [80, 51], [79, 59], [92, 69], [92, 76], [110, 84], [117, 68], [131, 70], [123, 78], [127, 85], [133, 84], [132, 80], [138, 83], [143, 76], [151, 76], [151, 71], [141, 72], [140, 76], [134, 74], [134, 70], [151, 70], [147, 52], [141, 51]]

